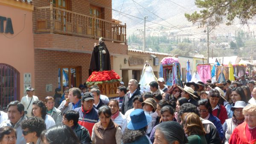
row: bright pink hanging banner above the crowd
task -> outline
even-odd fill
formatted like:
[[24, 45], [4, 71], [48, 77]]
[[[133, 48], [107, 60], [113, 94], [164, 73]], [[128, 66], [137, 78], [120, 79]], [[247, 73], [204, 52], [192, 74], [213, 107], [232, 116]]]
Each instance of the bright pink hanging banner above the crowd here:
[[209, 63], [198, 64], [197, 71], [203, 83], [206, 83], [207, 80], [211, 79], [211, 65]]

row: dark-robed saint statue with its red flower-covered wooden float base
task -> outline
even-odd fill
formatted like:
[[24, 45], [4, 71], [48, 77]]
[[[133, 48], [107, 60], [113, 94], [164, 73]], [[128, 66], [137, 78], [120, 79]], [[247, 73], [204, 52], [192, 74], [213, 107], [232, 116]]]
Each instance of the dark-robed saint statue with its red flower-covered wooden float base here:
[[[90, 75], [91, 74], [91, 75]], [[104, 38], [99, 38], [99, 43], [94, 43], [93, 52], [89, 65], [89, 78], [86, 85], [99, 86], [102, 95], [117, 96], [117, 87], [120, 85], [120, 76], [111, 70], [110, 55], [104, 43]]]

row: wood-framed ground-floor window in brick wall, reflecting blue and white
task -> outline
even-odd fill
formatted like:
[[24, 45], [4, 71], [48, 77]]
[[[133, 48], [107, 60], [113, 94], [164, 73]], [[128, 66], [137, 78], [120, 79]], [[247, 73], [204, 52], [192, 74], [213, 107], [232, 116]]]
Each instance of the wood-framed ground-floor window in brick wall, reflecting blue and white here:
[[58, 68], [58, 88], [62, 91], [65, 87], [79, 86], [79, 67], [62, 66]]

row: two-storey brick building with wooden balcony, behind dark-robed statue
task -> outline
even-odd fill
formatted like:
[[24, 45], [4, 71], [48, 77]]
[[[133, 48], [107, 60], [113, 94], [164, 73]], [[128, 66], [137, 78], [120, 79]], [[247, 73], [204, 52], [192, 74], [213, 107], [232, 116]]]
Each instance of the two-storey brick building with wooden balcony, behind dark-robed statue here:
[[33, 0], [35, 95], [78, 87], [89, 77], [99, 37], [111, 56], [126, 55], [126, 26], [112, 20], [112, 0]]

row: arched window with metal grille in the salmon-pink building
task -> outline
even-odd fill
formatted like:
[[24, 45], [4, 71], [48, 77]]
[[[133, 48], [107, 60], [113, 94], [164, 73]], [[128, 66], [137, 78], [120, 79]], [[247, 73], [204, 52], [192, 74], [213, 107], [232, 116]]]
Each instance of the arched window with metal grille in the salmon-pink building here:
[[20, 98], [20, 72], [14, 67], [0, 63], [0, 109], [6, 109], [11, 101]]

